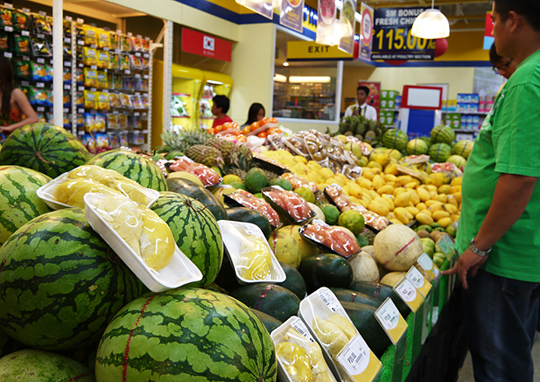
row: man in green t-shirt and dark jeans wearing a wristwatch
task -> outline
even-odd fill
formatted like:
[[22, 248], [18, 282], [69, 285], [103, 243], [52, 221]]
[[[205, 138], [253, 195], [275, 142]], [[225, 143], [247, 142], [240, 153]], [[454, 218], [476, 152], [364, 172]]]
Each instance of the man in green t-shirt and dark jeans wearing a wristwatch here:
[[495, 0], [497, 53], [517, 70], [497, 96], [465, 168], [456, 246], [443, 274], [465, 288], [475, 380], [533, 380], [540, 304], [540, 1]]

